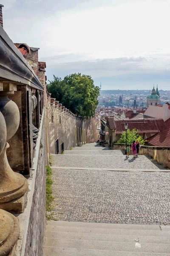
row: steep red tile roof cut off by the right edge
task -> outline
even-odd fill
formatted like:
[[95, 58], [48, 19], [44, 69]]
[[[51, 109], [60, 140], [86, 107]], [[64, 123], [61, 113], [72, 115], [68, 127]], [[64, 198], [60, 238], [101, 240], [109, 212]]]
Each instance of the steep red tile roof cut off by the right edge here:
[[163, 123], [158, 134], [148, 138], [148, 143], [157, 147], [170, 147], [170, 118]]

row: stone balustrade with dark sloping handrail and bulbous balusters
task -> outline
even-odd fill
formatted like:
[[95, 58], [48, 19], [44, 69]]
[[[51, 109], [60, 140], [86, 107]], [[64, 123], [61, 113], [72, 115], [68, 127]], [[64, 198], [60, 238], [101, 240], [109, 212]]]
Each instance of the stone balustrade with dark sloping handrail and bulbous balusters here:
[[[11, 213], [22, 213], [28, 204], [31, 179], [26, 177], [36, 172], [33, 160], [40, 148], [43, 96], [44, 85], [0, 26], [0, 256], [11, 252], [23, 227]], [[44, 172], [46, 161], [39, 162]]]

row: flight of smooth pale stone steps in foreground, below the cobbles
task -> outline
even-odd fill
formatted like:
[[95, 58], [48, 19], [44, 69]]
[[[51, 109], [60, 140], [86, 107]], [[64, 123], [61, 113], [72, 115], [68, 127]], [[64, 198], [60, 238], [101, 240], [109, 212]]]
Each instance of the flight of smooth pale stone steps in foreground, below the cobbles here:
[[45, 256], [170, 256], [170, 227], [48, 221]]

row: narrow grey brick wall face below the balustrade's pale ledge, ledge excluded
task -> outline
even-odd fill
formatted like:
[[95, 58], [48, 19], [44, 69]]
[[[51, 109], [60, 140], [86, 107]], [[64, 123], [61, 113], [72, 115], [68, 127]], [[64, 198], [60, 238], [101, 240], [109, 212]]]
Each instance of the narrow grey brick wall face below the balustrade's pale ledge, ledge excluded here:
[[[24, 256], [42, 256], [45, 230], [45, 201], [46, 201], [46, 131], [43, 120], [40, 139], [40, 151], [37, 159], [34, 194], [29, 215], [28, 233]], [[33, 170], [34, 172], [34, 170]]]

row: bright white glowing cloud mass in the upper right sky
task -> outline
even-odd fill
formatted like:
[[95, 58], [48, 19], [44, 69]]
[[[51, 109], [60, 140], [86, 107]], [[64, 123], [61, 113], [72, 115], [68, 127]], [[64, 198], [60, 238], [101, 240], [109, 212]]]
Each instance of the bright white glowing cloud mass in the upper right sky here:
[[62, 12], [48, 19], [46, 44], [55, 52], [85, 52], [89, 58], [170, 52], [169, 13], [170, 1]]

